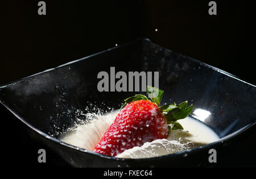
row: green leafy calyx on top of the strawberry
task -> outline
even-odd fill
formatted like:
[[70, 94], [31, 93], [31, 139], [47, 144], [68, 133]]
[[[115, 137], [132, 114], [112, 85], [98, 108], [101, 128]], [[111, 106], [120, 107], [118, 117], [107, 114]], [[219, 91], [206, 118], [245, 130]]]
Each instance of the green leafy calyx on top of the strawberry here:
[[[193, 105], [188, 106], [188, 101], [184, 101], [180, 103], [179, 105], [176, 105], [176, 103], [169, 103], [167, 105], [160, 106], [160, 101], [163, 97], [163, 90], [160, 90], [158, 88], [147, 86], [147, 94], [148, 97], [151, 99], [153, 103], [155, 103], [158, 106], [159, 111], [164, 115], [164, 118], [166, 118], [167, 124], [171, 124], [171, 126], [168, 126], [170, 133], [172, 130], [183, 130], [183, 127], [177, 120], [186, 118], [193, 109]], [[150, 101], [145, 95], [142, 94], [136, 94], [133, 97], [129, 97], [125, 99], [125, 103], [121, 107], [120, 110], [123, 109], [128, 103], [138, 100], [148, 100]]]

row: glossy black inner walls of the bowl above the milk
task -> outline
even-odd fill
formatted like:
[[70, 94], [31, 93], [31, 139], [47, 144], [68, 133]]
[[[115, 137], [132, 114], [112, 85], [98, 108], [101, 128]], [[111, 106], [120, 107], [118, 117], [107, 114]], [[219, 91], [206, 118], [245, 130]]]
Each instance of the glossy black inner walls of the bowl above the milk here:
[[[159, 72], [163, 103], [193, 103], [191, 116], [221, 138], [255, 123], [255, 86], [191, 57], [138, 39], [2, 86], [0, 101], [36, 129], [59, 138], [86, 113], [119, 109], [140, 92], [100, 92], [97, 75]], [[115, 80], [118, 81], [118, 80]], [[127, 84], [127, 89], [129, 84]]]

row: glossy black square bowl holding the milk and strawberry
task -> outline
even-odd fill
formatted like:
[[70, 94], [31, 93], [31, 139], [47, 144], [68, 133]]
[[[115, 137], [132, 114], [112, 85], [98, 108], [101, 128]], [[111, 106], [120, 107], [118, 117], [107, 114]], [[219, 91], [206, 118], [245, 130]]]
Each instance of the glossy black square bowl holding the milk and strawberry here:
[[[172, 155], [149, 159], [118, 159], [58, 140], [77, 118], [97, 106], [119, 109], [134, 92], [99, 92], [98, 72], [159, 72], [163, 102], [193, 103], [192, 117], [212, 128], [220, 140]], [[24, 124], [32, 139], [55, 151], [72, 166], [205, 166], [209, 149], [218, 157], [239, 144], [241, 133], [255, 124], [255, 86], [191, 57], [138, 39], [0, 87], [0, 101]], [[138, 93], [138, 92], [137, 92]], [[205, 119], [195, 115], [203, 109]]]

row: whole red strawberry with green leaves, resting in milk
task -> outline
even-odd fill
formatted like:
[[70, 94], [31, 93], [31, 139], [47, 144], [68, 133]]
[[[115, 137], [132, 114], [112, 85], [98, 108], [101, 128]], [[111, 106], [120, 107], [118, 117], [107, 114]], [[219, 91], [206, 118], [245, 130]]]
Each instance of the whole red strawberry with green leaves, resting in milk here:
[[151, 97], [152, 102], [141, 94], [125, 99], [125, 104], [94, 148], [94, 152], [116, 156], [146, 142], [166, 139], [171, 131], [168, 124], [171, 124], [172, 130], [183, 129], [176, 120], [187, 117], [192, 111], [192, 105], [187, 107], [185, 101], [180, 105], [174, 103], [159, 107], [163, 90], [147, 86], [147, 93], [158, 95]]

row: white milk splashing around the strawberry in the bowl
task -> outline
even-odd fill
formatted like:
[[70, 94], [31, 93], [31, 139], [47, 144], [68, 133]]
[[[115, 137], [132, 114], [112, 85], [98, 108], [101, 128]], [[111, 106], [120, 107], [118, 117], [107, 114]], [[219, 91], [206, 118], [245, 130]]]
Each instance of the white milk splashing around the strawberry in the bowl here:
[[[104, 132], [113, 123], [118, 111], [98, 116], [88, 124], [81, 124], [67, 132], [61, 141], [93, 151]], [[212, 143], [219, 139], [218, 135], [205, 124], [187, 117], [178, 120], [184, 130], [172, 130], [167, 139], [158, 139], [144, 143], [141, 147], [133, 147], [120, 153], [121, 158], [145, 158], [167, 155]]]

